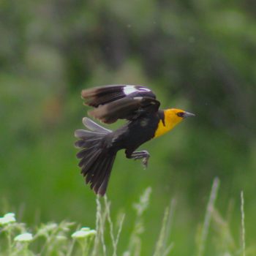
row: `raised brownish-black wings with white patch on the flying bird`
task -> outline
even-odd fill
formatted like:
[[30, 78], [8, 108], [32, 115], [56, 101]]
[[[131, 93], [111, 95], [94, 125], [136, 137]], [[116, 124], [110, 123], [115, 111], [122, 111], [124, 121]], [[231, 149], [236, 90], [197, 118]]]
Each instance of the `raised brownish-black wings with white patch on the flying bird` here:
[[160, 102], [156, 95], [144, 86], [102, 86], [82, 91], [85, 105], [94, 107], [89, 114], [104, 123], [117, 119], [134, 120], [144, 113], [156, 112]]

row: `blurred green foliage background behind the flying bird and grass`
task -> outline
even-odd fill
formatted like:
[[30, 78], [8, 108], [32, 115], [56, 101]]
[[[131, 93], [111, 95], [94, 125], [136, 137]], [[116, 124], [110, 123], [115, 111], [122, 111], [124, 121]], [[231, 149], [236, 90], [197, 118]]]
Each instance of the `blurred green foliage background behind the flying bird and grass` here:
[[217, 207], [225, 217], [233, 206], [237, 244], [244, 190], [246, 243], [254, 244], [255, 15], [253, 0], [0, 1], [1, 214], [20, 212], [31, 225], [69, 219], [94, 227], [95, 195], [73, 146], [89, 110], [80, 91], [141, 84], [162, 108], [197, 116], [143, 145], [151, 153], [147, 170], [118, 154], [108, 197], [114, 218], [127, 214], [120, 252], [135, 218], [132, 203], [152, 187], [143, 255], [154, 248], [171, 198], [173, 253], [192, 255], [216, 176]]

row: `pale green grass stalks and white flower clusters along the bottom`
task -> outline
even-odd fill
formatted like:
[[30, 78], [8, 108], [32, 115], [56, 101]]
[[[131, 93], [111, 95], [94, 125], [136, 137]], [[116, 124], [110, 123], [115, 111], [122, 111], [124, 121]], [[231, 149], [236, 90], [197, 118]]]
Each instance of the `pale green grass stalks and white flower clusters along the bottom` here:
[[[236, 239], [231, 236], [228, 222], [222, 218], [214, 207], [218, 189], [219, 179], [215, 178], [206, 208], [203, 227], [200, 230], [196, 244], [197, 255], [206, 255], [206, 242], [207, 246], [214, 246], [214, 242], [208, 241], [211, 222], [212, 226], [215, 227], [215, 234], [214, 230], [211, 233], [216, 243], [214, 247], [215, 255], [256, 255], [255, 247], [246, 248], [245, 244], [244, 193], [241, 192], [242, 242], [241, 246], [236, 246]], [[151, 188], [147, 188], [143, 195], [140, 196], [138, 203], [134, 204], [136, 218], [125, 251], [122, 248], [118, 248], [118, 241], [122, 238], [121, 230], [125, 215], [121, 215], [115, 226], [110, 214], [110, 201], [107, 197], [97, 197], [95, 230], [90, 227], [75, 228], [74, 222], [65, 221], [59, 224], [42, 224], [31, 230], [26, 227], [26, 224], [17, 222], [13, 213], [0, 217], [0, 256], [141, 256], [143, 247], [141, 235], [147, 228], [143, 220], [143, 214], [148, 209], [150, 196]], [[152, 256], [176, 255], [176, 252], [174, 252], [174, 249], [176, 249], [175, 244], [169, 238], [176, 203], [176, 200], [171, 200], [170, 207], [165, 209], [162, 227], [159, 227], [159, 238], [154, 246]], [[105, 238], [107, 237], [111, 241], [110, 245], [106, 244], [107, 239]]]

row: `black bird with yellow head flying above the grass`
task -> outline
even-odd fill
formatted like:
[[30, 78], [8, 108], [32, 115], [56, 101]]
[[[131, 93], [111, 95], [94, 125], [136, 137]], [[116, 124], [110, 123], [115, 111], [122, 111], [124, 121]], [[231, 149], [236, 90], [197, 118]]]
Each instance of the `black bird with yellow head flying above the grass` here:
[[148, 151], [135, 151], [141, 144], [170, 131], [188, 116], [195, 116], [184, 110], [170, 108], [160, 110], [155, 94], [144, 86], [101, 86], [82, 91], [85, 105], [94, 107], [89, 114], [100, 121], [111, 124], [118, 119], [127, 119], [123, 127], [111, 131], [99, 126], [89, 118], [83, 118], [88, 130], [78, 129], [75, 146], [82, 148], [81, 173], [86, 184], [99, 195], [105, 195], [110, 172], [116, 153], [125, 149], [129, 159], [143, 159], [148, 163]]

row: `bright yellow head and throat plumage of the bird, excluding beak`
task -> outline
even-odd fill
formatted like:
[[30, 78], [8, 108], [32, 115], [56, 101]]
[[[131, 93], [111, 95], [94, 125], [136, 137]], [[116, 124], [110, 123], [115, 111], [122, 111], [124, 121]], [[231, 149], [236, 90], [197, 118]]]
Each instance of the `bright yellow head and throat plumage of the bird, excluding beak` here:
[[171, 129], [173, 129], [173, 127], [180, 123], [184, 118], [178, 116], [177, 114], [183, 112], [185, 111], [177, 108], [164, 110], [165, 124], [163, 123], [162, 119], [160, 119], [157, 130], [154, 134], [154, 138], [169, 132]]

